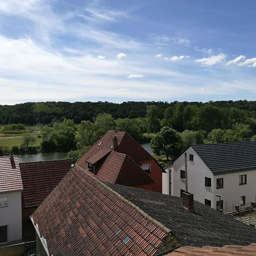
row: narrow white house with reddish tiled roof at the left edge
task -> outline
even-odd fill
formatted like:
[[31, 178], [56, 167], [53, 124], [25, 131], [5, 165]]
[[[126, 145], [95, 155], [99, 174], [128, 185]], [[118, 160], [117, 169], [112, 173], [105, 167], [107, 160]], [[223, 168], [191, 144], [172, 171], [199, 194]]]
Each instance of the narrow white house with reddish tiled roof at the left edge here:
[[18, 156], [1, 156], [0, 247], [22, 241], [22, 189]]

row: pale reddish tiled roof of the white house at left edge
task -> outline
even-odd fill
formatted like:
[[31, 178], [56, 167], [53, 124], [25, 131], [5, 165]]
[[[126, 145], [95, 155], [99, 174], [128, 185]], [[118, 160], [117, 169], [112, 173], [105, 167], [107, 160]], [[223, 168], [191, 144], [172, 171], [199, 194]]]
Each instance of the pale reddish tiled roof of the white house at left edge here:
[[0, 192], [22, 189], [18, 156], [14, 156], [14, 164], [11, 164], [10, 156], [0, 156]]

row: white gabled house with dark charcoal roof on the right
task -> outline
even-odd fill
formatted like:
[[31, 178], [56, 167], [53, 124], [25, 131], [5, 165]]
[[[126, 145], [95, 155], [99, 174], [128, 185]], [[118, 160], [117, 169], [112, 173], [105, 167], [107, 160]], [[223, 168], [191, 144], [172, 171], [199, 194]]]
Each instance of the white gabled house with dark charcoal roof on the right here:
[[200, 144], [189, 147], [163, 174], [163, 193], [182, 196], [187, 154], [188, 192], [214, 209], [256, 200], [256, 142]]

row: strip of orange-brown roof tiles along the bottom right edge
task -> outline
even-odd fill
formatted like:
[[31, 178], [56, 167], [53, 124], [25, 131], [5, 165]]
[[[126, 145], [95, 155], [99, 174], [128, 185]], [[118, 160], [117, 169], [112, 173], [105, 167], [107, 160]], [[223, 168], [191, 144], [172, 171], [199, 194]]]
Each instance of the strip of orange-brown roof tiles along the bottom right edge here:
[[256, 243], [251, 243], [247, 246], [237, 246], [237, 245], [225, 245], [223, 247], [192, 247], [185, 246], [174, 250], [172, 253], [166, 256], [197, 256], [197, 255], [218, 255], [218, 256], [256, 256]]

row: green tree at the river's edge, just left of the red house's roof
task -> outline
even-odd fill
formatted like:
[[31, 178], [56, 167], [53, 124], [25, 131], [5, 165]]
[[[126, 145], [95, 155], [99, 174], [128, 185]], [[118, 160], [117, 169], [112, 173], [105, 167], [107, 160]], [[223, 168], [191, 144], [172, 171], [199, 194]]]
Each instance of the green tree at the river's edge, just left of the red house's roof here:
[[96, 141], [94, 136], [94, 126], [90, 121], [81, 121], [76, 132], [76, 146], [81, 149], [84, 146], [92, 146]]

